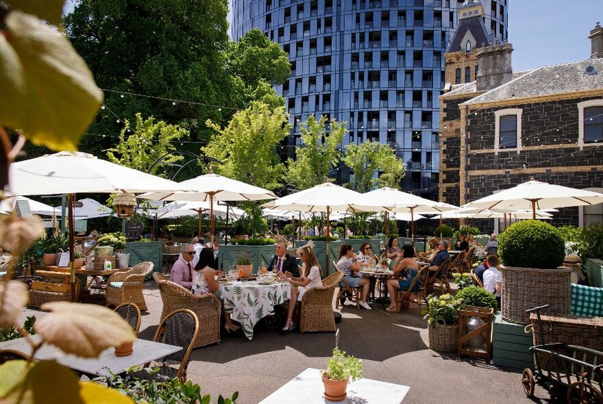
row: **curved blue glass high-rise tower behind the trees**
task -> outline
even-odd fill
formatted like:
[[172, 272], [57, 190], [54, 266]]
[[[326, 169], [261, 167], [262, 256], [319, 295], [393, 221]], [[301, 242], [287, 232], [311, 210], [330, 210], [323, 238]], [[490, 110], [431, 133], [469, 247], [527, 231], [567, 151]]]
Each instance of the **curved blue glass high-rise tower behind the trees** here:
[[[291, 114], [289, 146], [309, 114], [347, 121], [344, 144], [391, 144], [407, 164], [404, 190], [435, 199], [444, 53], [458, 6], [473, 1], [232, 0], [231, 36], [259, 28], [289, 55], [291, 77], [276, 89]], [[505, 41], [508, 0], [482, 5], [491, 42]]]

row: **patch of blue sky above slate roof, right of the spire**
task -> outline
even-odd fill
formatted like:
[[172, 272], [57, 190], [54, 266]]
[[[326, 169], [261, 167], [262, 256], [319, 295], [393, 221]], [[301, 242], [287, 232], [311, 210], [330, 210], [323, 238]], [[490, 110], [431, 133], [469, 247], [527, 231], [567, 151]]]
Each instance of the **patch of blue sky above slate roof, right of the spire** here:
[[508, 7], [514, 71], [590, 58], [602, 0], [509, 0]]

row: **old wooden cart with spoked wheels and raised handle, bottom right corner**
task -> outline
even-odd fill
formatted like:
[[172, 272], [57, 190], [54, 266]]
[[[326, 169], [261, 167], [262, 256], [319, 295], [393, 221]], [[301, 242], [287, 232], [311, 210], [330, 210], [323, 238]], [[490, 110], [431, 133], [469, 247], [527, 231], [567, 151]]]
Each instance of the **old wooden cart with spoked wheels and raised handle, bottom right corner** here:
[[545, 344], [540, 311], [547, 307], [526, 310], [536, 313], [541, 336], [541, 344], [530, 347], [534, 353], [534, 373], [529, 368], [521, 373], [526, 396], [533, 396], [534, 386], [539, 383], [567, 388], [568, 403], [603, 403], [603, 364], [599, 364], [603, 352], [565, 342]]

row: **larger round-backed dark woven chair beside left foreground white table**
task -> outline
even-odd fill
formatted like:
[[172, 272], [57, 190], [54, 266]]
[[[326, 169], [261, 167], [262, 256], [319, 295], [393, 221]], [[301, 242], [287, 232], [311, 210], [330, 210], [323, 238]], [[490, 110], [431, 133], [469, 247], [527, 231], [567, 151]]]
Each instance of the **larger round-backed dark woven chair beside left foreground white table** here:
[[180, 346], [182, 349], [164, 356], [161, 362], [180, 363], [175, 377], [186, 380], [186, 368], [190, 359], [190, 351], [199, 333], [197, 315], [188, 309], [175, 310], [164, 318], [157, 327], [153, 341]]

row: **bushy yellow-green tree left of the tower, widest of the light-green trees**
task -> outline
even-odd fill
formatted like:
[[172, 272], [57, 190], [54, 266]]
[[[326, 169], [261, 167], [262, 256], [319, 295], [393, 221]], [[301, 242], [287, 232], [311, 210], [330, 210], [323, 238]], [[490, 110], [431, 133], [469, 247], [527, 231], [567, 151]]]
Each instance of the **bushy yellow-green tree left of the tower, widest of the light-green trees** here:
[[210, 164], [214, 173], [262, 188], [278, 188], [285, 166], [276, 147], [291, 131], [284, 108], [271, 110], [254, 101], [236, 112], [225, 127], [212, 121], [207, 124], [216, 134], [201, 151], [223, 163]]

